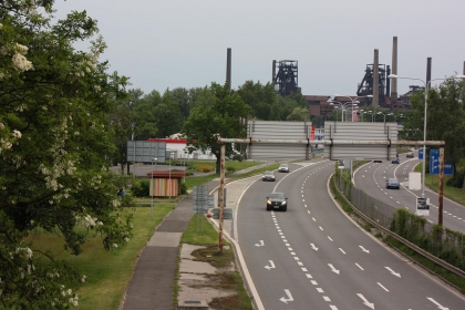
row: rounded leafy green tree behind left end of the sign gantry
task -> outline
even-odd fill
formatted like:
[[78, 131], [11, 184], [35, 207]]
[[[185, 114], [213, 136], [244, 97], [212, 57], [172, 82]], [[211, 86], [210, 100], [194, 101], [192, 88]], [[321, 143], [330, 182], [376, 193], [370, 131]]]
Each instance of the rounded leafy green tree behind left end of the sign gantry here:
[[[219, 137], [244, 137], [245, 126], [241, 120], [248, 116], [250, 107], [236, 92], [229, 92], [227, 83], [219, 85], [211, 83], [211, 96], [204, 95], [205, 102], [190, 111], [184, 123], [182, 133], [187, 137], [188, 146], [211, 152], [217, 157], [217, 173], [220, 164]], [[230, 146], [229, 146], [230, 148]]]

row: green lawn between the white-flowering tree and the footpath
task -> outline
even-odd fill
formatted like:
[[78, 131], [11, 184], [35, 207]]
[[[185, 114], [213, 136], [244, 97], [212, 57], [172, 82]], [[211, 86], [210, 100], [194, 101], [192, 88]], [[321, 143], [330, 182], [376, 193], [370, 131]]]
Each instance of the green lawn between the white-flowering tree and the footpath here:
[[86, 282], [78, 291], [79, 309], [118, 309], [123, 293], [133, 275], [136, 259], [156, 227], [175, 207], [174, 204], [156, 205], [151, 217], [149, 207], [138, 207], [134, 211], [134, 237], [117, 250], [105, 251], [100, 237], [90, 238], [82, 247], [83, 252], [72, 256], [63, 250], [63, 239], [52, 234], [34, 234], [29, 237], [34, 248], [50, 249], [58, 259], [74, 266]]

